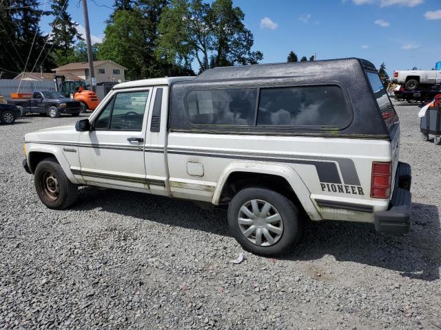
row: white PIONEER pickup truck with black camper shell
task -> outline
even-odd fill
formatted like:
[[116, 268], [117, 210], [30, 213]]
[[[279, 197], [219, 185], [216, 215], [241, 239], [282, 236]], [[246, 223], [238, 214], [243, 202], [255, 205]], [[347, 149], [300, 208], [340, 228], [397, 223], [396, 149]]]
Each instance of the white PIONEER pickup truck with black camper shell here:
[[121, 83], [90, 118], [26, 134], [23, 166], [57, 210], [80, 185], [227, 206], [240, 245], [271, 255], [299, 241], [305, 219], [407, 232], [399, 148], [376, 68], [349, 58]]

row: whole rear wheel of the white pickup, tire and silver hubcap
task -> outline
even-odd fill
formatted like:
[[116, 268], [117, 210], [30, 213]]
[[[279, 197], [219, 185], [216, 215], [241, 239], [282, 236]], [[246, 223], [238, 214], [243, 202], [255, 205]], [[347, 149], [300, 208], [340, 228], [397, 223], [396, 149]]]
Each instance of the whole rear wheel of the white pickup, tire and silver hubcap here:
[[266, 188], [240, 190], [229, 203], [228, 225], [244, 250], [261, 256], [287, 252], [302, 234], [294, 203]]

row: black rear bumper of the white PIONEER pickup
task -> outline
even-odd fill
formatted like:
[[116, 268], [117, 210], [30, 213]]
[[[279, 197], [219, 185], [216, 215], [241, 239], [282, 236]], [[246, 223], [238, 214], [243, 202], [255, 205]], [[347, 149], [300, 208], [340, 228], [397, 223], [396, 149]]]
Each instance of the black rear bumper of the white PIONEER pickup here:
[[412, 195], [409, 191], [411, 181], [411, 166], [399, 162], [389, 209], [375, 212], [374, 214], [375, 229], [378, 232], [390, 232], [393, 234], [409, 232], [412, 204]]

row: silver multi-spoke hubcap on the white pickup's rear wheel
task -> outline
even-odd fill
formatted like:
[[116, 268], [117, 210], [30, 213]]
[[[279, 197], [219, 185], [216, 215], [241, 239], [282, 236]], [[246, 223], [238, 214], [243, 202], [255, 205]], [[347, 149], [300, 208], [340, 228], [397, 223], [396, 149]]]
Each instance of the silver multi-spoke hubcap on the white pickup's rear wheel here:
[[240, 231], [248, 241], [259, 246], [269, 246], [278, 242], [283, 234], [283, 220], [271, 203], [252, 199], [239, 210]]

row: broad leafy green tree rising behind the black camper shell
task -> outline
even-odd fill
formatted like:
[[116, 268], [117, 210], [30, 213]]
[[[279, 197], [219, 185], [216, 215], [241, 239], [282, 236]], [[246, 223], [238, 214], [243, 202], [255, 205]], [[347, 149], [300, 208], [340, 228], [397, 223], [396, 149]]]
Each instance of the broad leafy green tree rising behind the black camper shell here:
[[189, 63], [196, 58], [201, 71], [220, 65], [256, 64], [262, 52], [251, 50], [252, 32], [245, 14], [232, 0], [172, 0], [161, 14], [156, 47], [158, 58], [169, 63]]

